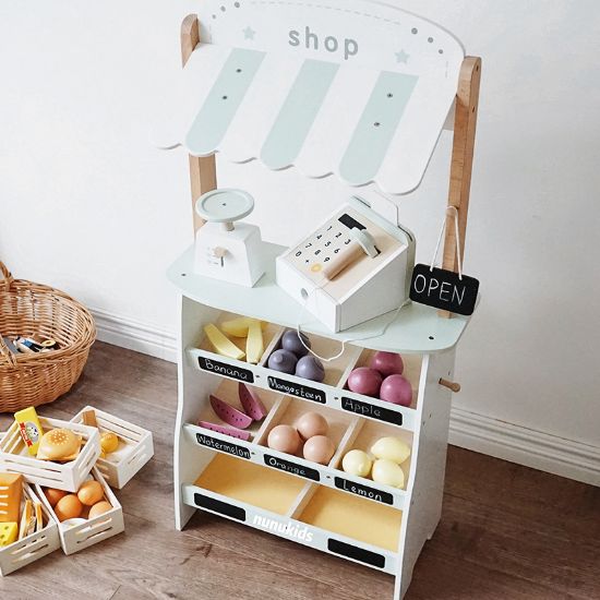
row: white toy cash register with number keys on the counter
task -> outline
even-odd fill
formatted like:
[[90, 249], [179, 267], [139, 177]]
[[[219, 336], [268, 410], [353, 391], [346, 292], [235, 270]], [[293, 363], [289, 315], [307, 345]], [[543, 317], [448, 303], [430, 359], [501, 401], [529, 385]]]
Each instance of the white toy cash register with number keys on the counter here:
[[408, 297], [415, 238], [358, 196], [277, 259], [277, 284], [340, 332]]

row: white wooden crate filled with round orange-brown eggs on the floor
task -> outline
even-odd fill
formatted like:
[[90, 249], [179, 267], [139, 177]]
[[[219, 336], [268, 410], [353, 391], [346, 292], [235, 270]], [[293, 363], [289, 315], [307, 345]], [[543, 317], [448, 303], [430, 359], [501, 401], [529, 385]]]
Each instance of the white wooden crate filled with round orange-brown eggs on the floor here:
[[112, 536], [117, 536], [117, 533], [120, 533], [125, 529], [123, 521], [123, 508], [96, 467], [92, 469], [89, 478], [100, 482], [105, 497], [112, 505], [112, 509], [104, 515], [93, 519], [86, 519], [85, 523], [72, 527], [67, 527], [58, 520], [55, 511], [46, 499], [46, 494], [39, 485], [36, 485], [37, 494], [41, 499], [46, 509], [52, 516], [52, 519], [58, 525], [60, 545], [62, 545], [63, 552], [68, 555], [74, 554], [85, 548], [89, 548], [95, 543], [111, 538]]

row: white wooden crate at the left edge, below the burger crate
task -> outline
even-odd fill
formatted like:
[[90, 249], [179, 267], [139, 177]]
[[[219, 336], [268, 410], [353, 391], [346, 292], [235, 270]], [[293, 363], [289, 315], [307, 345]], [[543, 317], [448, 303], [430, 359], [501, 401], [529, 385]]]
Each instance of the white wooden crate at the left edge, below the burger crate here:
[[[23, 487], [23, 493], [25, 497], [39, 502], [29, 485]], [[36, 531], [10, 545], [0, 548], [0, 576], [4, 577], [60, 548], [58, 525], [44, 503], [41, 511], [46, 520], [46, 527], [41, 531]]]

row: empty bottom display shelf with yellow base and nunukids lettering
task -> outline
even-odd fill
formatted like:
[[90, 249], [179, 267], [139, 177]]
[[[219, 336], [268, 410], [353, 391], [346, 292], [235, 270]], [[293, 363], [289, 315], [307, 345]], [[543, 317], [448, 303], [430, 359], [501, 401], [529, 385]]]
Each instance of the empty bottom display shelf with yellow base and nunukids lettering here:
[[[314, 511], [315, 524], [308, 523], [309, 518], [313, 518], [313, 513], [308, 508], [302, 517], [305, 520], [295, 518], [292, 512], [296, 500], [303, 490], [303, 483], [291, 476], [218, 455], [194, 482], [183, 484], [182, 496], [183, 502], [194, 508], [244, 523], [250, 527], [386, 573], [395, 573], [397, 554], [388, 548], [388, 533], [380, 541], [375, 536], [369, 536], [359, 528], [349, 527], [344, 531], [335, 515], [327, 517], [326, 514], [319, 514], [322, 509], [320, 499], [316, 500], [319, 505]], [[346, 497], [346, 494], [340, 495]], [[370, 503], [360, 499], [350, 501], [351, 508], [346, 511], [352, 514], [355, 519], [363, 511], [368, 512], [373, 521], [377, 518], [387, 518], [387, 507], [373, 505], [374, 508], [370, 508]], [[338, 500], [337, 505], [343, 506], [345, 503]], [[398, 529], [401, 513], [389, 511], [396, 515], [393, 525], [394, 529]], [[352, 535], [376, 543], [355, 539]]]

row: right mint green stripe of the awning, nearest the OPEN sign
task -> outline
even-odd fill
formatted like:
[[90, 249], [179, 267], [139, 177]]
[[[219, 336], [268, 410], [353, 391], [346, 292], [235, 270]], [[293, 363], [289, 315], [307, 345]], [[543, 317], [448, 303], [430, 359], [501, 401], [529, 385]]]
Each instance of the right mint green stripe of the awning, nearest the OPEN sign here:
[[381, 73], [339, 165], [344, 181], [362, 185], [375, 178], [418, 80]]

